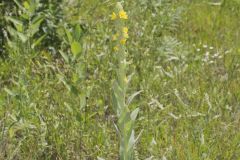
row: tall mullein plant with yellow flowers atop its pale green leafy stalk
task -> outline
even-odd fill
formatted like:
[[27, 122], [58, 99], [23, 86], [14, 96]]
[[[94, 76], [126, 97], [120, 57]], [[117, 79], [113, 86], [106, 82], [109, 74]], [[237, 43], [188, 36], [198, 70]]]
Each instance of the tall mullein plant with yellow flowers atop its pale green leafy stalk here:
[[120, 160], [132, 160], [134, 157], [134, 144], [137, 139], [134, 137], [134, 122], [136, 120], [139, 109], [130, 111], [128, 105], [131, 99], [126, 102], [126, 91], [128, 79], [126, 76], [127, 68], [127, 51], [126, 42], [129, 38], [128, 28], [125, 23], [128, 20], [127, 13], [123, 10], [120, 2], [117, 3], [115, 11], [111, 15], [114, 21], [115, 34], [112, 36], [114, 43], [113, 51], [117, 58], [116, 74], [117, 78], [113, 84], [113, 107], [117, 114], [118, 125], [116, 126], [120, 138]]

